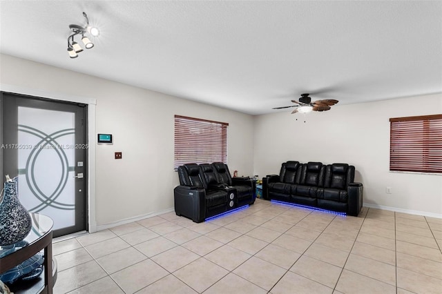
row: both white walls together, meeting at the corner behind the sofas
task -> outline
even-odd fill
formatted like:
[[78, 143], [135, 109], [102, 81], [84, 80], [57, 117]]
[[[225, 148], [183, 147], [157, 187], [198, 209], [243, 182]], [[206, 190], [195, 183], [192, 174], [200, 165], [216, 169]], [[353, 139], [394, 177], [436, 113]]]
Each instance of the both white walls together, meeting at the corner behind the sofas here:
[[[251, 117], [8, 55], [0, 62], [0, 84], [97, 99], [97, 133], [113, 133], [115, 141], [97, 146], [99, 226], [173, 207], [175, 114], [229, 123], [229, 168], [240, 175], [279, 173], [287, 160], [346, 162], [356, 166], [365, 204], [442, 217], [441, 175], [389, 171], [390, 117], [440, 114], [440, 94], [337, 104], [304, 123], [289, 111]], [[122, 160], [113, 159], [115, 151]]]

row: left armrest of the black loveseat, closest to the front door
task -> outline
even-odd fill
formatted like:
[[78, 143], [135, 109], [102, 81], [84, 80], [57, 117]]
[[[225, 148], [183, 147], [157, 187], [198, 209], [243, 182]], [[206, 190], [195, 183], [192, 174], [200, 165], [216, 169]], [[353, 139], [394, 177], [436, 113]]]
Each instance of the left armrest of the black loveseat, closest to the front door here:
[[206, 191], [201, 188], [177, 186], [173, 189], [176, 215], [183, 215], [193, 222], [206, 219]]

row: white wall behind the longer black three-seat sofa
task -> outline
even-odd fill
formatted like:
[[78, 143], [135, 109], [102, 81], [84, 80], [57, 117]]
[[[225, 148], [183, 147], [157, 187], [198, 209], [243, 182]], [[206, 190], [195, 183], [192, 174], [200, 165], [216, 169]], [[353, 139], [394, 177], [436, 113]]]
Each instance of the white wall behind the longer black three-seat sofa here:
[[[336, 104], [332, 110], [305, 117], [290, 115], [288, 110], [256, 116], [254, 173], [278, 174], [287, 160], [344, 162], [356, 167], [365, 204], [442, 217], [442, 175], [389, 171], [390, 117], [441, 113], [442, 94], [438, 94]], [[387, 186], [392, 194], [385, 193]]]

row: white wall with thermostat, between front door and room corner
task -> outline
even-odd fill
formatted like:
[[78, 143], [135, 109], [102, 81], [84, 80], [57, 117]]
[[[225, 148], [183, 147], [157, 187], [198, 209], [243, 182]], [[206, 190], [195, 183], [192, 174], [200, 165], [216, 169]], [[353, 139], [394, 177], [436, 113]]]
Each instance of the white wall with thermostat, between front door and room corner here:
[[[228, 163], [253, 173], [253, 117], [78, 72], [0, 55], [0, 84], [97, 100], [97, 133], [113, 146], [96, 146], [96, 219], [105, 226], [173, 208], [174, 115], [229, 123]], [[90, 142], [96, 144], [95, 142]], [[115, 160], [113, 153], [123, 158]], [[91, 179], [94, 180], [94, 179]]]

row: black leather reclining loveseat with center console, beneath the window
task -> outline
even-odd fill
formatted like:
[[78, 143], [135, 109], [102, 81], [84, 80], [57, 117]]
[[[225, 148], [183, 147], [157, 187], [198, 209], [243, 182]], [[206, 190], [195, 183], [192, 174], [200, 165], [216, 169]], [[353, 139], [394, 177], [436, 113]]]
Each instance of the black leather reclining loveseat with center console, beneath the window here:
[[177, 172], [180, 186], [173, 190], [175, 213], [193, 222], [255, 202], [256, 182], [231, 177], [228, 166], [221, 162], [184, 164]]

